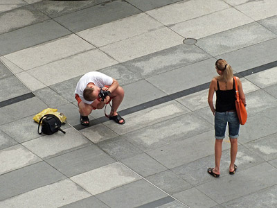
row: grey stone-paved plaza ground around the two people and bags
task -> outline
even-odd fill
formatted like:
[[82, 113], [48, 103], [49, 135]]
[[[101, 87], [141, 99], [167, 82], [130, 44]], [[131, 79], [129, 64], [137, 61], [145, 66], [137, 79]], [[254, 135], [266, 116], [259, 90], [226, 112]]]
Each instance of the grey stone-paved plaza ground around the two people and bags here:
[[[277, 207], [276, 0], [0, 0], [0, 207]], [[193, 38], [197, 41], [188, 39]], [[184, 43], [183, 43], [184, 41]], [[238, 172], [214, 166], [215, 60], [242, 80], [249, 114]], [[89, 71], [125, 89], [118, 125], [80, 125]], [[45, 108], [67, 116], [37, 134]], [[108, 109], [109, 111], [109, 109]]]

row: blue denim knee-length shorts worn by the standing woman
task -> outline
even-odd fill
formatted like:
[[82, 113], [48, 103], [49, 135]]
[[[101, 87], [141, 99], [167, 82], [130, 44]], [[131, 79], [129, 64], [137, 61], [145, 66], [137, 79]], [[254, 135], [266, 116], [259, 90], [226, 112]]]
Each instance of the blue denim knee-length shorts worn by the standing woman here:
[[229, 137], [238, 138], [240, 121], [237, 112], [215, 112], [215, 139], [224, 139], [226, 125], [229, 127]]

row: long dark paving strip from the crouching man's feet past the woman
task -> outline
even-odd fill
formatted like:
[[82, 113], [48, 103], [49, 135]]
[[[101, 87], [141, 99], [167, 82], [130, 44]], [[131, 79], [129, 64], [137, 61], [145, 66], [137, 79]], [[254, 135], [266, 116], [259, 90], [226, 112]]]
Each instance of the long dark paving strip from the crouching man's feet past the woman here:
[[[259, 67], [255, 67], [255, 68], [252, 68], [252, 69], [247, 69], [247, 70], [239, 72], [239, 73], [234, 73], [234, 76], [238, 76], [239, 78], [245, 78], [245, 77], [247, 77], [251, 74], [258, 73], [260, 71], [265, 71], [267, 69], [271, 69], [272, 67], [277, 67], [277, 61], [270, 62], [268, 64], [264, 64], [264, 65], [261, 65]], [[118, 113], [122, 116], [125, 116], [127, 114], [132, 114], [132, 113], [138, 112], [140, 110], [145, 110], [148, 107], [153, 107], [154, 105], [159, 105], [161, 103], [166, 103], [168, 101], [172, 101], [172, 99], [175, 100], [177, 98], [181, 98], [183, 96], [187, 96], [189, 94], [193, 94], [195, 92], [200, 92], [204, 89], [208, 89], [209, 85], [210, 85], [210, 83], [204, 83], [202, 85], [197, 85], [197, 86], [191, 87], [189, 89], [184, 89], [181, 92], [176, 92], [176, 93], [170, 94], [168, 96], [163, 96], [161, 98], [157, 98], [153, 101], [148, 101], [146, 103], [142, 103], [142, 104], [136, 105], [134, 107], [129, 107], [125, 110], [119, 111]], [[103, 123], [105, 121], [107, 121], [107, 119], [105, 118], [105, 116], [103, 116], [103, 117], [100, 117], [98, 119], [94, 119], [89, 124], [89, 126], [96, 125], [96, 124], [99, 124], [99, 123]], [[84, 126], [84, 125], [78, 124], [78, 125], [74, 125], [73, 128], [76, 128], [77, 130], [82, 130], [84, 128], [88, 128], [89, 126]]]

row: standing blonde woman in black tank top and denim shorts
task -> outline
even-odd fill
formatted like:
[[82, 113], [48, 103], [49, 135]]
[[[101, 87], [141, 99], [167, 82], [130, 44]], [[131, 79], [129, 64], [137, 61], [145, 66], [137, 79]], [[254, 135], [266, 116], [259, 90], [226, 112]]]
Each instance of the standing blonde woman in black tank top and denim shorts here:
[[[222, 141], [225, 137], [226, 125], [229, 127], [229, 138], [231, 143], [231, 162], [229, 173], [235, 174], [237, 166], [235, 157], [238, 152], [238, 132], [240, 122], [235, 110], [235, 82], [237, 79], [238, 91], [242, 103], [246, 106], [242, 83], [239, 78], [233, 76], [233, 69], [226, 60], [219, 59], [215, 62], [215, 69], [219, 76], [213, 78], [208, 91], [208, 105], [215, 116], [215, 167], [208, 168], [208, 173], [213, 177], [220, 177], [220, 159], [222, 155]], [[216, 94], [215, 107], [213, 106], [213, 94]]]

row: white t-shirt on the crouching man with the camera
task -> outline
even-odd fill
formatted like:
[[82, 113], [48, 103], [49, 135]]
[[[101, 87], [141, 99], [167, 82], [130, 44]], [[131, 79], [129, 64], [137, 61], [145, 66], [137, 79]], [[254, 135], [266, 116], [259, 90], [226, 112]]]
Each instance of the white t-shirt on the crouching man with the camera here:
[[105, 75], [104, 73], [100, 73], [98, 71], [91, 71], [85, 73], [77, 83], [75, 94], [78, 94], [82, 100], [82, 102], [91, 105], [93, 101], [87, 101], [84, 99], [83, 93], [84, 89], [87, 87], [87, 84], [93, 83], [97, 87], [105, 87], [105, 85], [111, 85], [113, 83], [113, 78], [110, 76]]

